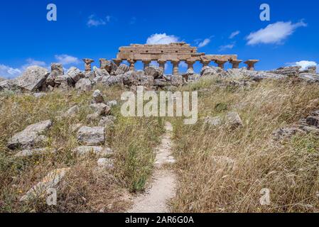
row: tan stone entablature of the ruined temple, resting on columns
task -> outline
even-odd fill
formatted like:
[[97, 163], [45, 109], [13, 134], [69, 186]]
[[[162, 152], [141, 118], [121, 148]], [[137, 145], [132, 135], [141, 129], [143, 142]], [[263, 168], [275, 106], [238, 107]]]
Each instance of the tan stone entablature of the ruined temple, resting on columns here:
[[[158, 62], [162, 68], [166, 62], [173, 65], [173, 74], [178, 74], [178, 65], [184, 61], [188, 65], [188, 70], [193, 70], [195, 62], [201, 62], [205, 67], [210, 62], [215, 62], [218, 67], [224, 68], [226, 62], [230, 62], [233, 68], [238, 68], [242, 60], [237, 60], [237, 55], [206, 55], [198, 52], [197, 48], [191, 47], [186, 43], [171, 43], [168, 45], [140, 45], [132, 44], [129, 47], [119, 48], [117, 58], [113, 61], [120, 65], [126, 60], [130, 64], [130, 69], [134, 70], [137, 61], [144, 63], [144, 68], [148, 67], [152, 61]], [[249, 70], [254, 70], [254, 64], [259, 60], [247, 60]]]

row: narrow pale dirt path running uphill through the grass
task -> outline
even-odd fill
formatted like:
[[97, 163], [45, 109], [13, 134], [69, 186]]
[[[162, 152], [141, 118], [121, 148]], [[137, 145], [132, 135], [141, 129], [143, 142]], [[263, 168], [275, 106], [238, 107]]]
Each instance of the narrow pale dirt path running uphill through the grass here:
[[166, 122], [166, 133], [162, 137], [161, 145], [156, 149], [156, 170], [149, 189], [134, 199], [134, 205], [129, 213], [168, 213], [167, 202], [175, 196], [176, 175], [172, 170], [166, 170], [163, 165], [175, 162], [171, 156], [171, 133], [173, 126]]

